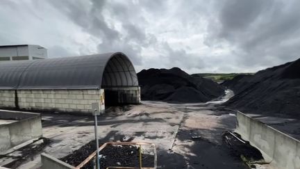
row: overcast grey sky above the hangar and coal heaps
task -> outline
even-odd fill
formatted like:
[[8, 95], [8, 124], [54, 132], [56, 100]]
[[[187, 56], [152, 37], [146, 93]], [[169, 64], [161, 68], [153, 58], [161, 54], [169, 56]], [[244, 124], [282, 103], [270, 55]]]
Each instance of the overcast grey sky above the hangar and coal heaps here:
[[1, 0], [0, 45], [122, 51], [135, 69], [256, 72], [300, 57], [298, 0]]

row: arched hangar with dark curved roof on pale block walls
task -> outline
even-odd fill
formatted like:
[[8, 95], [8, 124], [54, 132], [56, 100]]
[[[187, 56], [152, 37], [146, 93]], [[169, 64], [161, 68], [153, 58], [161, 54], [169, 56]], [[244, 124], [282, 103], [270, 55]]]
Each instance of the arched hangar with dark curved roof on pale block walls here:
[[91, 112], [91, 104], [139, 104], [133, 64], [121, 53], [0, 63], [0, 106]]

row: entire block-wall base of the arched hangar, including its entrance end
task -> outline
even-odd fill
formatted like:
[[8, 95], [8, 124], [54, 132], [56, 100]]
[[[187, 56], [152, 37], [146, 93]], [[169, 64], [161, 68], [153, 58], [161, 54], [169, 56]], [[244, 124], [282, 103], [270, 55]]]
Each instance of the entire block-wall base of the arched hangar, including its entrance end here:
[[104, 88], [90, 90], [0, 90], [0, 107], [26, 110], [91, 113], [92, 103], [105, 110], [104, 92], [108, 106], [140, 104], [140, 87]]

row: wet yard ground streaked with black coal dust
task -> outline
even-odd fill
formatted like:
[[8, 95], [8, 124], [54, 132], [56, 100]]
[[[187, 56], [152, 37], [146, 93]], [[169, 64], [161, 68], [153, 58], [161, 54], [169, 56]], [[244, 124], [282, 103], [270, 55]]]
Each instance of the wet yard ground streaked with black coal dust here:
[[[226, 97], [207, 104], [142, 102], [141, 105], [110, 108], [99, 117], [101, 142], [124, 136], [133, 142], [155, 143], [158, 168], [246, 168], [240, 157], [222, 145], [222, 132], [235, 128], [235, 115], [218, 105]], [[42, 114], [43, 134], [53, 142], [44, 152], [61, 158], [94, 139], [93, 118]], [[108, 157], [107, 157], [108, 158]], [[40, 157], [19, 168], [40, 167]]]

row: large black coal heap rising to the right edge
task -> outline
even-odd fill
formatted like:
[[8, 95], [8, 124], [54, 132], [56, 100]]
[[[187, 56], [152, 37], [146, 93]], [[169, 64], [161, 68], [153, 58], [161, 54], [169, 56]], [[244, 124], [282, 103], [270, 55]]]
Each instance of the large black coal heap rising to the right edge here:
[[224, 105], [278, 117], [300, 118], [300, 59], [225, 81], [235, 92]]

